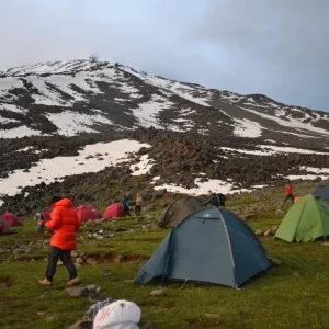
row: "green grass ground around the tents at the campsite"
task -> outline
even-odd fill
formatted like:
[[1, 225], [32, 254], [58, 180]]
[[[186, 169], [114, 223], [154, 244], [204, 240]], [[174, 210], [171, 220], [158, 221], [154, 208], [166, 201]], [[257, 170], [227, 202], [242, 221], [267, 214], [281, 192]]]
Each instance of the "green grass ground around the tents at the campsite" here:
[[[257, 214], [260, 216], [248, 224], [254, 230], [265, 230], [280, 224], [282, 219], [282, 216], [275, 214], [281, 207], [281, 192], [266, 192], [263, 198], [257, 201], [251, 194], [245, 195], [229, 201], [228, 208], [245, 211], [258, 204]], [[269, 205], [270, 201], [273, 202]], [[158, 228], [138, 230], [147, 220], [146, 217], [140, 223], [127, 218], [115, 224], [84, 224], [78, 252], [83, 251], [93, 257], [150, 257], [169, 231]], [[49, 238], [35, 231], [34, 220], [26, 219], [25, 223], [25, 227], [16, 229], [16, 235], [0, 237], [0, 243], [16, 241], [22, 245]], [[115, 232], [117, 228], [134, 231]], [[100, 229], [111, 230], [115, 236], [102, 240], [87, 238], [89, 232]], [[101, 286], [101, 297], [111, 296], [135, 302], [143, 311], [140, 324], [151, 321], [156, 328], [329, 328], [329, 246], [324, 246], [324, 241], [286, 243], [273, 240], [272, 237], [261, 238], [261, 241], [268, 254], [280, 259], [282, 265], [250, 280], [239, 291], [192, 283], [186, 283], [182, 288], [182, 283], [166, 282], [166, 296], [151, 297], [150, 292], [159, 286], [159, 282], [144, 286], [124, 282], [136, 275], [143, 260], [82, 265], [78, 271], [83, 286], [97, 284]], [[63, 266], [57, 270], [53, 287], [37, 285], [37, 280], [43, 277], [46, 269], [46, 253], [47, 249], [41, 248], [22, 261], [0, 256], [0, 282], [10, 281], [12, 284], [10, 288], [0, 291], [0, 328], [67, 328], [80, 319], [91, 305], [86, 298], [68, 298], [64, 294], [68, 277]], [[36, 261], [32, 262], [31, 258]], [[105, 269], [111, 270], [111, 275], [101, 274]], [[295, 272], [300, 275], [295, 276]], [[48, 291], [52, 293], [41, 298]], [[54, 315], [59, 319], [47, 322], [47, 318]]]

